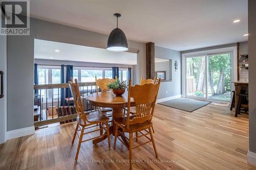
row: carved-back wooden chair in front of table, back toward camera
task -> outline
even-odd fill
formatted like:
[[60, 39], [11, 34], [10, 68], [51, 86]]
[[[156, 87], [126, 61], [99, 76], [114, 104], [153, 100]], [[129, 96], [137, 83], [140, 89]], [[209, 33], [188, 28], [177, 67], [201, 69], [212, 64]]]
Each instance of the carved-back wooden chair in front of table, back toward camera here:
[[[116, 124], [114, 150], [116, 148], [117, 138], [122, 141], [122, 139], [119, 138], [119, 135], [122, 135], [122, 137], [129, 139], [130, 169], [132, 169], [132, 161], [131, 161], [133, 159], [132, 150], [148, 142], [153, 143], [153, 148], [156, 154], [156, 158], [158, 158], [156, 144], [155, 144], [151, 129], [153, 126], [152, 118], [153, 118], [153, 113], [156, 105], [160, 82], [161, 82], [161, 79], [159, 79], [158, 84], [144, 84], [144, 85], [131, 86], [131, 79], [130, 79], [128, 99], [127, 99], [128, 101], [127, 116], [114, 120], [114, 123]], [[131, 98], [133, 98], [136, 104], [136, 114], [130, 116]], [[145, 132], [142, 133], [141, 131], [145, 131]], [[141, 135], [140, 136], [136, 135], [136, 137], [133, 138], [133, 133], [136, 133], [136, 132], [141, 133]], [[124, 133], [129, 133], [129, 138], [127, 138], [124, 135]], [[150, 135], [150, 137], [146, 135]], [[137, 140], [139, 137], [143, 137], [143, 136], [149, 140], [133, 147], [133, 139]]]

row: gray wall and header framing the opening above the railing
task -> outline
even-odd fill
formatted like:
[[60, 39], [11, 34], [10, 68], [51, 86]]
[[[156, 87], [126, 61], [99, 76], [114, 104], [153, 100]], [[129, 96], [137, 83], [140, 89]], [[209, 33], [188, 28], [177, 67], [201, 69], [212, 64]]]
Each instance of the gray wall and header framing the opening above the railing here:
[[[7, 37], [7, 130], [33, 126], [34, 38], [105, 48], [108, 35], [31, 18], [30, 36]], [[137, 53], [133, 67], [135, 83], [146, 76], [145, 43], [128, 41]]]

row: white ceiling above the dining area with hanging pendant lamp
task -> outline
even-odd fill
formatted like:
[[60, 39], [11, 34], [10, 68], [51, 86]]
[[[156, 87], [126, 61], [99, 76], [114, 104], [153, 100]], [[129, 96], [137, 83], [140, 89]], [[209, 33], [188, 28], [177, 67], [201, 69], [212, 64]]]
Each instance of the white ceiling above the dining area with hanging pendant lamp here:
[[34, 0], [30, 6], [32, 17], [107, 35], [119, 12], [127, 39], [178, 51], [248, 40], [246, 0]]

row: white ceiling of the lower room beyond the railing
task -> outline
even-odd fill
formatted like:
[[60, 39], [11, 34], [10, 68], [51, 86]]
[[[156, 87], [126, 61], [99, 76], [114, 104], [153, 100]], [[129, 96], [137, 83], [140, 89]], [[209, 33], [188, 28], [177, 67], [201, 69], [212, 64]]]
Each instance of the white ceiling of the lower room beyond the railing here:
[[[59, 52], [55, 52], [59, 50]], [[94, 63], [136, 65], [137, 54], [109, 52], [102, 48], [35, 39], [34, 58]]]

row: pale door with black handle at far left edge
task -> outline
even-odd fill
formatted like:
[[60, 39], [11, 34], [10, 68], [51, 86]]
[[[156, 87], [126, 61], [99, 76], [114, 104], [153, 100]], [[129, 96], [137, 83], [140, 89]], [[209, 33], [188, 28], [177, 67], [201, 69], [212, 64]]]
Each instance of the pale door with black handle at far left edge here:
[[4, 98], [0, 99], [0, 143], [5, 142], [5, 132], [6, 132], [6, 113], [7, 113], [7, 37], [0, 35], [0, 70], [4, 71]]

